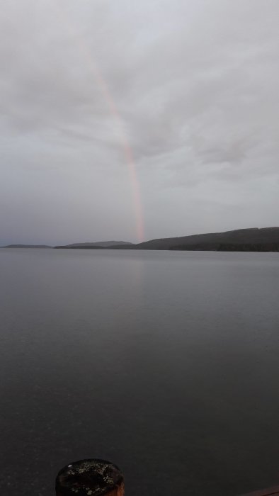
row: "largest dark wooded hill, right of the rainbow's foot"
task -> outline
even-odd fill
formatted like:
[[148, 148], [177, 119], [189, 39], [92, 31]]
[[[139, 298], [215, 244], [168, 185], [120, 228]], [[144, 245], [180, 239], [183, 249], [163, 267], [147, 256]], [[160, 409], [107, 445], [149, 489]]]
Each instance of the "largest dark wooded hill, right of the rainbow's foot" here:
[[279, 227], [257, 227], [202, 235], [152, 239], [135, 249], [212, 250], [224, 252], [279, 252]]

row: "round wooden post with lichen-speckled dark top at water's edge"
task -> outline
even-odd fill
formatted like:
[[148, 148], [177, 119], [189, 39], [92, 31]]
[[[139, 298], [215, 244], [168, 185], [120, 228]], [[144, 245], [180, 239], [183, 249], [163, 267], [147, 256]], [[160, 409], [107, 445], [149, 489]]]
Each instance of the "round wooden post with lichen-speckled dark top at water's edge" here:
[[123, 496], [124, 480], [119, 468], [106, 460], [80, 460], [59, 471], [57, 496]]

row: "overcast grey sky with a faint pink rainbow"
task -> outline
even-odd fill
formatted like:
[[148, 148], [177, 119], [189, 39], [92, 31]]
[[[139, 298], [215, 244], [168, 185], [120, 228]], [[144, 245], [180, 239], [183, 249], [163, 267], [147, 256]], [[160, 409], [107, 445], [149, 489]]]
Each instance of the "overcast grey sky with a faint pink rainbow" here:
[[0, 244], [279, 225], [278, 0], [0, 7]]

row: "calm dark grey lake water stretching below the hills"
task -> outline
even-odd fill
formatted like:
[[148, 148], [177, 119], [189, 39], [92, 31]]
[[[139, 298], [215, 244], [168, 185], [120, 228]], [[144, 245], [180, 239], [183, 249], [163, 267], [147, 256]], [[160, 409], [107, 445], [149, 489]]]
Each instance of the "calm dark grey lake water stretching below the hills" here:
[[279, 484], [279, 256], [0, 251], [1, 496], [106, 458], [131, 496]]

